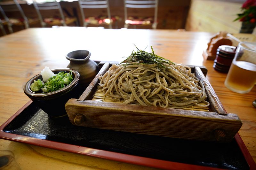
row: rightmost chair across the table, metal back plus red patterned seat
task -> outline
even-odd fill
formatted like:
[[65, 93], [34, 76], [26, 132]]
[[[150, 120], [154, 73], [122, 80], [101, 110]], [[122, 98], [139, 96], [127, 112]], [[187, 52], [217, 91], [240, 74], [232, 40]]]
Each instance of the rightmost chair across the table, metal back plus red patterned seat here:
[[[155, 8], [153, 18], [146, 17], [142, 19], [134, 19], [132, 17], [128, 18], [127, 8]], [[157, 9], [158, 0], [124, 0], [124, 27], [128, 28], [129, 25], [151, 25], [152, 28], [156, 29], [157, 26]], [[138, 16], [136, 16], [137, 18]], [[131, 19], [130, 19], [131, 18]]]

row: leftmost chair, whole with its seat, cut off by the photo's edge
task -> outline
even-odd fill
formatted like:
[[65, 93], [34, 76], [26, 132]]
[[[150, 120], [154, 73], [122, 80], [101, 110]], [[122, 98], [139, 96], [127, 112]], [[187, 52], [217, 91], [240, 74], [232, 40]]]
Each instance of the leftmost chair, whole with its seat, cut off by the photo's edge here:
[[[13, 0], [14, 3], [6, 3], [2, 2], [0, 3], [0, 12], [2, 16], [4, 17], [4, 20], [2, 21], [3, 25], [7, 25], [8, 30], [10, 33], [13, 33], [12, 26], [24, 26], [25, 29], [29, 28], [30, 24], [34, 24], [36, 22], [39, 22], [38, 19], [28, 19], [22, 10], [20, 4], [17, 0]], [[8, 17], [10, 15], [18, 14], [16, 17]], [[7, 14], [9, 14], [7, 16]]]

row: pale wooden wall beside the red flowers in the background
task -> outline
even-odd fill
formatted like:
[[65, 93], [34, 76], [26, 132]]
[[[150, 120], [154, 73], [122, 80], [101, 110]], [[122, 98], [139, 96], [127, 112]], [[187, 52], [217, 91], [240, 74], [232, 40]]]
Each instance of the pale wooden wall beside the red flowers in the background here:
[[[185, 29], [212, 33], [219, 31], [239, 33], [242, 22], [234, 22], [234, 19], [237, 17], [236, 14], [241, 13], [241, 7], [244, 2], [192, 0]], [[252, 34], [256, 35], [256, 30]]]

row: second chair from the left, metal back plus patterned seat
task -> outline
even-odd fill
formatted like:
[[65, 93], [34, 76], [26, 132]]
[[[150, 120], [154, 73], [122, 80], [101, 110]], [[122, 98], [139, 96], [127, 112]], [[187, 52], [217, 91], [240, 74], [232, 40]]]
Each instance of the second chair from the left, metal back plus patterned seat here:
[[[36, 13], [38, 15], [38, 18], [40, 19], [42, 27], [46, 27], [47, 25], [50, 26], [68, 26], [71, 23], [77, 24], [76, 17], [65, 17], [63, 14], [63, 11], [61, 9], [59, 2], [46, 2], [46, 3], [37, 3], [36, 1], [33, 2]], [[43, 17], [45, 16], [41, 14], [40, 11], [46, 11], [46, 10], [58, 10], [60, 17]]]

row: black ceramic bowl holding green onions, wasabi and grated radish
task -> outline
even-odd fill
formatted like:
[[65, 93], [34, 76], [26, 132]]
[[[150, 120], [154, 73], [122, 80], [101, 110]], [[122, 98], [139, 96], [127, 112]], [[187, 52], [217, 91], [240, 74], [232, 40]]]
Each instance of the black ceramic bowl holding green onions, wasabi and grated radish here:
[[59, 68], [53, 69], [52, 72], [57, 74], [59, 72], [69, 73], [69, 71], [73, 74], [73, 81], [66, 87], [49, 92], [49, 93], [42, 93], [42, 91], [33, 92], [30, 89], [30, 85], [34, 82], [34, 80], [41, 79], [42, 75], [37, 74], [33, 78], [31, 78], [26, 85], [24, 86], [24, 93], [44, 112], [46, 112], [51, 117], [62, 117], [67, 115], [65, 110], [65, 104], [70, 98], [77, 98], [77, 84], [80, 79], [80, 74], [72, 69], [69, 68]]

